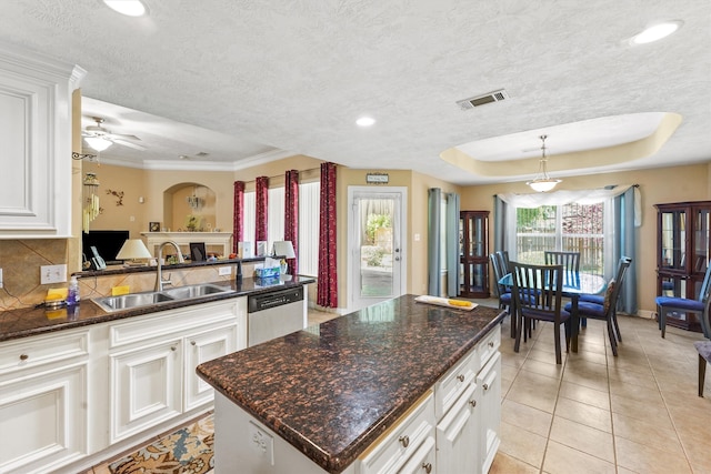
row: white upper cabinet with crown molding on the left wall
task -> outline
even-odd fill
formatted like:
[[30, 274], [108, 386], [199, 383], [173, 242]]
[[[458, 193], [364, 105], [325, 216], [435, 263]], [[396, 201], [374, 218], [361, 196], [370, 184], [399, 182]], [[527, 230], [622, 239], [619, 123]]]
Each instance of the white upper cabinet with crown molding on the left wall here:
[[84, 74], [0, 43], [0, 239], [71, 235], [71, 93]]

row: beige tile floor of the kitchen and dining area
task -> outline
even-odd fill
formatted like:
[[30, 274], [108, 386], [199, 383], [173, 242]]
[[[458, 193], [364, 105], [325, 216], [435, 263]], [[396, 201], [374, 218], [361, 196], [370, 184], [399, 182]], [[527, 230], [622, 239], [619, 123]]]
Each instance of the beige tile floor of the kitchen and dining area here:
[[[336, 316], [310, 311], [309, 323]], [[661, 339], [655, 321], [619, 320], [617, 357], [604, 324], [589, 321], [579, 352], [563, 354], [561, 365], [552, 324], [540, 324], [515, 353], [504, 321], [501, 446], [491, 474], [711, 473], [711, 372], [700, 399], [692, 344], [702, 335], [668, 327]]]

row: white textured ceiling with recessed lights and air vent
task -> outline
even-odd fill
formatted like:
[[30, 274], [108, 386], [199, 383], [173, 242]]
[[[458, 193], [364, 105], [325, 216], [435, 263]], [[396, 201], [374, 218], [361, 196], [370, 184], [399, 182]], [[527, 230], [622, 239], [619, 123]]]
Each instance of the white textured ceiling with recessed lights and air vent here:
[[[495, 147], [478, 159], [529, 159], [547, 133], [552, 164], [564, 148], [599, 148], [624, 139], [625, 123], [633, 137], [674, 113], [681, 124], [652, 155], [574, 172], [711, 160], [708, 1], [146, 1], [140, 19], [98, 0], [2, 6], [0, 41], [84, 68], [92, 112], [148, 148], [102, 155], [179, 167], [192, 160], [179, 154], [207, 152], [211, 165], [239, 169], [290, 152], [473, 184], [535, 170], [478, 175], [440, 154], [484, 141]], [[670, 19], [684, 26], [665, 40], [624, 41]], [[499, 89], [509, 99], [455, 104]], [[362, 114], [375, 125], [356, 127]], [[617, 117], [628, 114], [648, 121]], [[593, 120], [608, 117], [621, 125]], [[565, 173], [558, 163], [554, 174]]]

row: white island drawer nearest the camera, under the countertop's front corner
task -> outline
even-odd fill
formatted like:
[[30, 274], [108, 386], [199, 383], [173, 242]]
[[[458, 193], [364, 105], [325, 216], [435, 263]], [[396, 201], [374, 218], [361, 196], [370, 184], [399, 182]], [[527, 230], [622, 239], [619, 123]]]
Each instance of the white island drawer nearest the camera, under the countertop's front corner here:
[[405, 463], [420, 453], [420, 446], [434, 441], [434, 399], [432, 392], [415, 402], [392, 427], [380, 436], [359, 458], [359, 474], [398, 473]]

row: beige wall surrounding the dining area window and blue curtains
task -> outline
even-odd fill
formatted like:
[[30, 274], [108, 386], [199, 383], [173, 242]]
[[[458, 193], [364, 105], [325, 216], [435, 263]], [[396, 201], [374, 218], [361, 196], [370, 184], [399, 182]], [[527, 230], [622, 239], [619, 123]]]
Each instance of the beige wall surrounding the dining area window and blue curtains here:
[[[639, 184], [642, 194], [642, 225], [637, 229], [638, 254], [634, 262], [638, 281], [638, 306], [642, 315], [655, 311], [657, 295], [657, 210], [654, 204], [667, 202], [703, 201], [711, 198], [710, 167], [659, 168], [620, 173], [565, 178], [557, 189], [582, 190], [608, 184]], [[490, 211], [493, 219], [493, 196], [497, 193], [529, 193], [525, 183], [491, 184], [465, 188], [461, 194], [461, 209]], [[489, 226], [493, 239], [493, 225]], [[493, 249], [489, 248], [490, 251]]]

